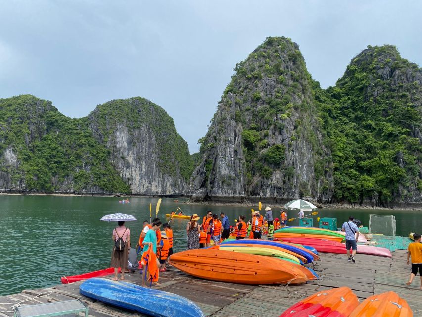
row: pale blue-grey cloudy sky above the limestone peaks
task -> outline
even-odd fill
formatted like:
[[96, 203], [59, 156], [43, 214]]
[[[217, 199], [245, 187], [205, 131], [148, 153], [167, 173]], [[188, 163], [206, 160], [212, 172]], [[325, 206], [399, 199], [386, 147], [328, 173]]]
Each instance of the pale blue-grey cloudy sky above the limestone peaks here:
[[235, 64], [267, 36], [299, 44], [326, 88], [368, 45], [422, 66], [422, 1], [0, 0], [0, 98], [32, 94], [69, 117], [141, 96], [197, 152]]

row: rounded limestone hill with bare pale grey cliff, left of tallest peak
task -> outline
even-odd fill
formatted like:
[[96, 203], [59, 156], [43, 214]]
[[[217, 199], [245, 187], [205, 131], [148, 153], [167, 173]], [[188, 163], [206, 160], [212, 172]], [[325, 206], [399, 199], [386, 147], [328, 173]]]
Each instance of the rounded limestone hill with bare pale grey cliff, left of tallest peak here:
[[133, 194], [182, 195], [192, 160], [173, 119], [143, 98], [114, 100], [88, 117], [95, 138]]

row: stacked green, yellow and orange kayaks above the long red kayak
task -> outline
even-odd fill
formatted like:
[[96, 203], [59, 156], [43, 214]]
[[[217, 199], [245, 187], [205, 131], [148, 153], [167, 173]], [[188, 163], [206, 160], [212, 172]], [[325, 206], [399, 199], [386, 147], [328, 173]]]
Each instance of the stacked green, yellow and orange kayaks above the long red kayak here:
[[341, 242], [344, 235], [339, 232], [313, 227], [285, 227], [274, 232], [274, 238], [311, 238]]

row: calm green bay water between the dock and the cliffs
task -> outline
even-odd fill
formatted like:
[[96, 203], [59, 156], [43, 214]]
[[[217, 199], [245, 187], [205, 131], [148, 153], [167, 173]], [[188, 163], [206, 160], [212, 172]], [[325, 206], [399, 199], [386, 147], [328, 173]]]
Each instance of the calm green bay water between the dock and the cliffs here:
[[[188, 205], [182, 201], [163, 199], [159, 217], [164, 220], [165, 213], [180, 206], [187, 214], [196, 213], [201, 218], [207, 210], [223, 211], [234, 224], [238, 215], [250, 213], [247, 207]], [[151, 202], [155, 214], [156, 198], [131, 198], [129, 204], [119, 204], [114, 197], [0, 195], [0, 295], [56, 285], [62, 276], [109, 267], [115, 223], [99, 219], [115, 212], [134, 215], [138, 221], [127, 222], [134, 246], [142, 220], [149, 220]], [[318, 216], [336, 217], [340, 225], [353, 214], [367, 225], [370, 213], [394, 214], [397, 235], [422, 231], [421, 211], [327, 209], [320, 210]], [[186, 247], [186, 223], [184, 219], [172, 220], [175, 252]]]

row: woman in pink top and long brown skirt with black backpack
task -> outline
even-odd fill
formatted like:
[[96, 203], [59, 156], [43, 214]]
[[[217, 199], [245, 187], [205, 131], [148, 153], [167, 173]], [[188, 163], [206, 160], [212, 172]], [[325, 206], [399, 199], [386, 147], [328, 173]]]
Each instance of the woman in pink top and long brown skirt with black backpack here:
[[[113, 280], [117, 281], [117, 272], [121, 269], [121, 280], [125, 279], [125, 270], [128, 265], [128, 256], [131, 245], [131, 231], [125, 227], [125, 221], [119, 221], [118, 226], [113, 229], [112, 239], [114, 242], [113, 252], [111, 253], [111, 267], [114, 267]], [[121, 244], [117, 247], [116, 244]]]

